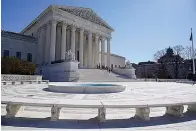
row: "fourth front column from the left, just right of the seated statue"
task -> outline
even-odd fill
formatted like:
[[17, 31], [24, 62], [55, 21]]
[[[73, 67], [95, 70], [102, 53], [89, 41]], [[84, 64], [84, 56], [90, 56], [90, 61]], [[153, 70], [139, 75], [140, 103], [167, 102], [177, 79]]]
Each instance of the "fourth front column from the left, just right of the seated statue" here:
[[84, 48], [84, 29], [80, 29], [80, 49], [79, 49], [79, 61], [80, 61], [80, 67], [83, 67], [83, 48]]

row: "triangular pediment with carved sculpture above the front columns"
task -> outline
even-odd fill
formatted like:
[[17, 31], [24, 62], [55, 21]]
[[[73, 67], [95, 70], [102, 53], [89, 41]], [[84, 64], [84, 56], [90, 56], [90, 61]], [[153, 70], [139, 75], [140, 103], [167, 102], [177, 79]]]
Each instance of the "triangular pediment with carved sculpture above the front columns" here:
[[89, 20], [95, 24], [104, 26], [110, 30], [114, 30], [110, 27], [101, 17], [99, 17], [92, 9], [83, 7], [73, 7], [73, 6], [57, 6], [57, 8], [66, 11], [70, 14], [81, 17], [85, 20]]

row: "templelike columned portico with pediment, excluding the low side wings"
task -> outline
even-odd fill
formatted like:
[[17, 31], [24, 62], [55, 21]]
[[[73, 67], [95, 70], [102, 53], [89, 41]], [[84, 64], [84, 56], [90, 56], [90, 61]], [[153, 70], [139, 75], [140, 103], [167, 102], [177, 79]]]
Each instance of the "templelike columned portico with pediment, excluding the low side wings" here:
[[21, 33], [37, 37], [37, 64], [63, 60], [65, 53], [71, 49], [80, 62], [79, 67], [94, 68], [99, 64], [111, 67], [110, 40], [113, 31], [92, 9], [49, 6]]

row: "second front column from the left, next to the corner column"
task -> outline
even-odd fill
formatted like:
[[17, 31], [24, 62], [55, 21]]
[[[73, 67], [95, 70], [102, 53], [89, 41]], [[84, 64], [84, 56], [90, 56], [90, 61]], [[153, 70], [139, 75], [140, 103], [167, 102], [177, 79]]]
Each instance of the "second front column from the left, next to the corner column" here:
[[63, 22], [62, 26], [62, 40], [61, 40], [61, 60], [65, 59], [65, 52], [66, 52], [66, 29], [67, 29], [67, 24]]

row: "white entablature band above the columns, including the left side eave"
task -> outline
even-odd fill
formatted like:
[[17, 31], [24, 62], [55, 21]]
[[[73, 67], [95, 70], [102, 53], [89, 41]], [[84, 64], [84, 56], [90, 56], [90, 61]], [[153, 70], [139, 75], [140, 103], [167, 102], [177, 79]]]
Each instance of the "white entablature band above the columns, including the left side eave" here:
[[39, 23], [37, 26], [38, 27], [42, 26], [44, 22], [40, 21], [40, 19], [42, 19], [49, 12], [52, 12], [52, 17], [53, 17], [52, 19], [56, 19], [59, 22], [66, 21], [67, 24], [69, 25], [74, 24], [78, 28], [84, 28], [86, 30], [92, 29], [93, 33], [97, 33], [99, 35], [111, 38], [111, 33], [113, 32], [113, 30], [110, 30], [104, 26], [101, 26], [91, 21], [88, 21], [86, 19], [83, 19], [69, 12], [63, 11], [59, 9], [59, 6], [55, 6], [55, 5], [51, 5], [47, 9], [45, 9], [37, 18], [35, 18], [35, 20], [33, 20], [27, 27], [25, 27], [21, 31], [21, 33], [23, 34], [23, 33], [28, 32], [31, 29], [31, 27], [33, 27], [33, 25], [38, 24], [39, 22], [41, 23]]

